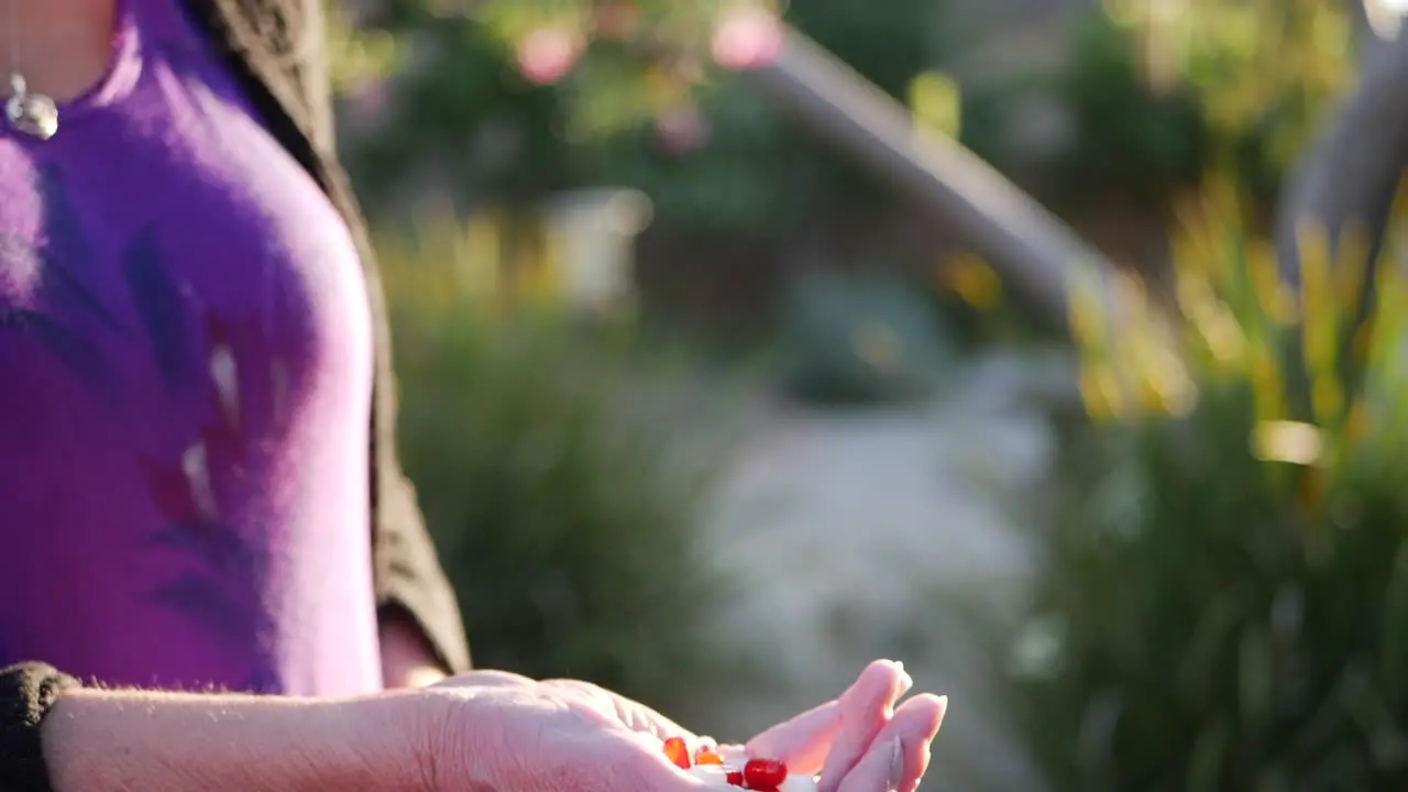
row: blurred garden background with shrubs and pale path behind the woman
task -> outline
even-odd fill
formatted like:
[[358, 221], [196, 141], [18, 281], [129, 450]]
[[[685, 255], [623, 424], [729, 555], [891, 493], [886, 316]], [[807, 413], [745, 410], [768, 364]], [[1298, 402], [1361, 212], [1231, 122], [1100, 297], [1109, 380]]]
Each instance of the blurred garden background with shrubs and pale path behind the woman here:
[[[328, 11], [480, 667], [736, 738], [894, 657], [952, 702], [926, 789], [1408, 779], [1408, 296], [1391, 245], [1274, 244], [1363, 7]], [[826, 113], [729, 62], [777, 55], [772, 14], [845, 65]], [[991, 217], [898, 189], [845, 107], [903, 110], [886, 151], [935, 183], [922, 152], [976, 155], [1101, 283], [1014, 283], [1071, 256], [984, 255]]]

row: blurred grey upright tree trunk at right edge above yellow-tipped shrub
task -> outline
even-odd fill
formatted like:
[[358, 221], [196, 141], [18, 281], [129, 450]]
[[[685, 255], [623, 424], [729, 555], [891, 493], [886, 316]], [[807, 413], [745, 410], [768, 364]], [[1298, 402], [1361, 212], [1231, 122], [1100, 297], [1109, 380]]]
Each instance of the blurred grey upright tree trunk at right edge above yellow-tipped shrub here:
[[[1371, 272], [1408, 166], [1408, 34], [1378, 39], [1362, 0], [1353, 6], [1366, 37], [1362, 73], [1295, 166], [1280, 202], [1276, 241], [1291, 283], [1300, 282], [1297, 234], [1308, 224], [1328, 235], [1335, 264]], [[1360, 261], [1342, 259], [1345, 234], [1363, 235], [1354, 251]]]

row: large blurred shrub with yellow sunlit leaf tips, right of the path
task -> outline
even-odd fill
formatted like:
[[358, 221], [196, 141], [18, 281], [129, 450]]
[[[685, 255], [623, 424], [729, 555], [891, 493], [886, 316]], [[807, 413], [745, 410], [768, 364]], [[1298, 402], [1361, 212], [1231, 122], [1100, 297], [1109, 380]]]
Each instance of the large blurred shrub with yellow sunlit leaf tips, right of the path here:
[[1362, 313], [1307, 234], [1290, 295], [1209, 194], [1180, 318], [1074, 311], [1094, 423], [1012, 658], [1029, 737], [1062, 789], [1401, 789], [1408, 287]]

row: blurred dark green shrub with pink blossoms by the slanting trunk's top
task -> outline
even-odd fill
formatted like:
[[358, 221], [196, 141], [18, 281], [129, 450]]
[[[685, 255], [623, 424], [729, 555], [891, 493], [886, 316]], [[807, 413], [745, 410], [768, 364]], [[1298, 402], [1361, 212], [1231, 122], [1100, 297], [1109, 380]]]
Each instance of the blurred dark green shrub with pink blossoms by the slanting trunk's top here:
[[[662, 224], [724, 231], [784, 234], [828, 202], [888, 200], [711, 66], [708, 34], [731, 3], [494, 0], [473, 17], [446, 13], [467, 4], [445, 0], [377, 6], [376, 24], [406, 54], [386, 117], [345, 137], [375, 211], [394, 209], [401, 187], [427, 173], [470, 206], [589, 183], [634, 186]], [[932, 65], [942, 34], [925, 0], [893, 0], [886, 13], [865, 0], [800, 0], [786, 13], [895, 97]], [[542, 28], [567, 30], [583, 48], [552, 85], [524, 78], [517, 61], [515, 48]], [[351, 61], [365, 61], [365, 49], [338, 48], [356, 55]]]

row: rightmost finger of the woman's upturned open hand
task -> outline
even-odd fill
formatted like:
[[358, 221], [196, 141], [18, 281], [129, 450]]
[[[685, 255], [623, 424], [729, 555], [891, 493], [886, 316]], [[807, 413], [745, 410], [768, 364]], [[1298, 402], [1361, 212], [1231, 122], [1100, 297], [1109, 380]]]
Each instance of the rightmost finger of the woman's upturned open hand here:
[[929, 769], [929, 744], [943, 724], [948, 698], [918, 695], [895, 710], [874, 744], [841, 779], [838, 792], [914, 792]]

